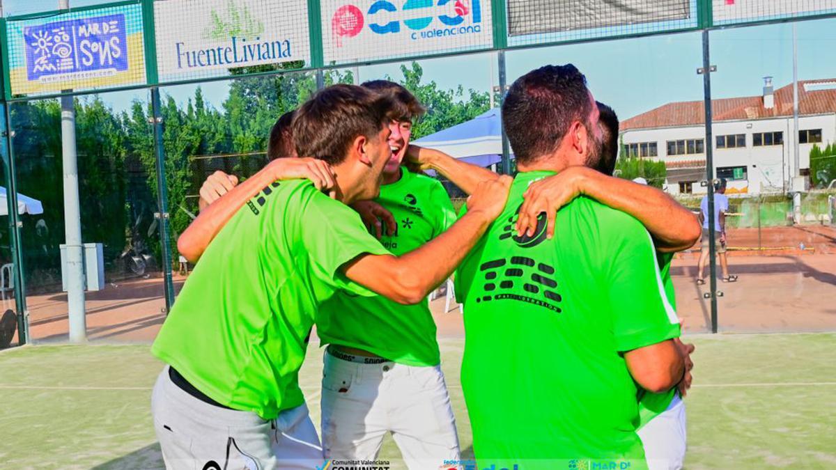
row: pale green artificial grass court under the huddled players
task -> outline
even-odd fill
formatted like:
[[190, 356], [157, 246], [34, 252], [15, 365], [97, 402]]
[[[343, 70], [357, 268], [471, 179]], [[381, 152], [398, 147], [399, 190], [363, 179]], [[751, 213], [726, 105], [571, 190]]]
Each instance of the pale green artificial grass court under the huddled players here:
[[[687, 340], [696, 344], [695, 386], [686, 398], [687, 468], [836, 465], [836, 334]], [[462, 457], [472, 457], [459, 385], [462, 347], [463, 340], [441, 341]], [[59, 345], [0, 352], [2, 467], [161, 468], [150, 416], [150, 389], [161, 363], [149, 348]], [[317, 427], [321, 356], [311, 345], [300, 374]], [[380, 459], [399, 468], [399, 457], [387, 438]]]

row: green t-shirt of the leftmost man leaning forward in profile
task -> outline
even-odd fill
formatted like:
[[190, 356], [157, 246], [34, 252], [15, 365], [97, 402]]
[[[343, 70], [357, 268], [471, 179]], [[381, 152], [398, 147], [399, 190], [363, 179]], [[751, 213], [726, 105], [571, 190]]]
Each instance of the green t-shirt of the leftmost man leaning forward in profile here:
[[212, 400], [264, 419], [304, 402], [298, 370], [320, 303], [374, 295], [340, 272], [386, 254], [354, 210], [310, 181], [277, 181], [223, 227], [186, 281], [151, 352]]

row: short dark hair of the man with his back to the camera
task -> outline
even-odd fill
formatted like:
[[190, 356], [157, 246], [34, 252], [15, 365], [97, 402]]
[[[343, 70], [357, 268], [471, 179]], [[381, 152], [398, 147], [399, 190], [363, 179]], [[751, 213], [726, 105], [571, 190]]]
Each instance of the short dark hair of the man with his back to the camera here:
[[517, 161], [528, 163], [558, 150], [573, 121], [588, 124], [591, 111], [584, 74], [573, 64], [547, 65], [511, 85], [502, 125]]

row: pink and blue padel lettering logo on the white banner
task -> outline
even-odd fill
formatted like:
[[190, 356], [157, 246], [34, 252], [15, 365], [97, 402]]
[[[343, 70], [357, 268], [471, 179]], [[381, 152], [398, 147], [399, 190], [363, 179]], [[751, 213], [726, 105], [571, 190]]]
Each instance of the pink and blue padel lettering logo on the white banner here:
[[[447, 6], [448, 3], [453, 4], [452, 11]], [[426, 16], [422, 14], [424, 12]], [[397, 19], [399, 16], [403, 18]], [[467, 17], [470, 17], [471, 21], [466, 23]], [[436, 20], [440, 24], [436, 23], [436, 27], [431, 28]], [[399, 12], [395, 3], [377, 0], [365, 14], [355, 5], [344, 5], [338, 8], [331, 18], [331, 29], [337, 39], [337, 47], [342, 46], [343, 38], [354, 38], [364, 27], [368, 27], [375, 34], [406, 31], [413, 40], [480, 33], [482, 3], [481, 0], [406, 0]]]

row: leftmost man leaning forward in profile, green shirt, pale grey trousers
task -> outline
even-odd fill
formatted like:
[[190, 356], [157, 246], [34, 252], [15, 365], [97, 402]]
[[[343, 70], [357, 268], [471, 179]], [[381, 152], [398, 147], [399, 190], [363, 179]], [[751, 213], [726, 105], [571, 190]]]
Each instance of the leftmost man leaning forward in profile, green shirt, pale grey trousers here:
[[167, 364], [151, 399], [166, 466], [319, 464], [298, 386], [319, 304], [339, 290], [421, 302], [502, 210], [508, 182], [492, 181], [469, 200], [472, 217], [415, 251], [392, 256], [366, 232], [344, 204], [380, 192], [397, 109], [390, 97], [352, 85], [319, 91], [298, 110], [294, 140], [298, 151], [332, 163], [337, 200], [311, 181], [273, 181], [206, 248], [151, 348]]

